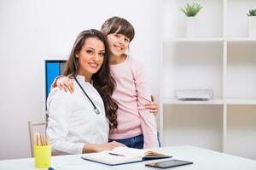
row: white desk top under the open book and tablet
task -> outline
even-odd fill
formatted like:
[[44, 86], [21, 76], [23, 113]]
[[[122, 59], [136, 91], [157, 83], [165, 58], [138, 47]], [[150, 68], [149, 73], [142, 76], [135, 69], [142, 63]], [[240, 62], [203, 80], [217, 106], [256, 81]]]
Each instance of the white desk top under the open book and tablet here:
[[[241, 158], [238, 156], [230, 156], [220, 152], [205, 150], [194, 146], [175, 146], [175, 147], [164, 147], [160, 148], [161, 152], [168, 155], [172, 155], [172, 159], [181, 159], [185, 161], [193, 161], [194, 164], [183, 166], [183, 167], [172, 167], [170, 169], [178, 170], [256, 170], [256, 161]], [[166, 159], [168, 160], [168, 159]], [[143, 170], [143, 169], [155, 169], [151, 167], [145, 167], [144, 164], [147, 162], [154, 161], [143, 161], [138, 163], [131, 163], [119, 166], [106, 166], [91, 161], [84, 161], [80, 158], [80, 155], [71, 156], [52, 156], [51, 167], [55, 170]], [[33, 158], [27, 159], [16, 159], [16, 160], [3, 160], [0, 161], [1, 170], [31, 170], [37, 169], [34, 167]]]

